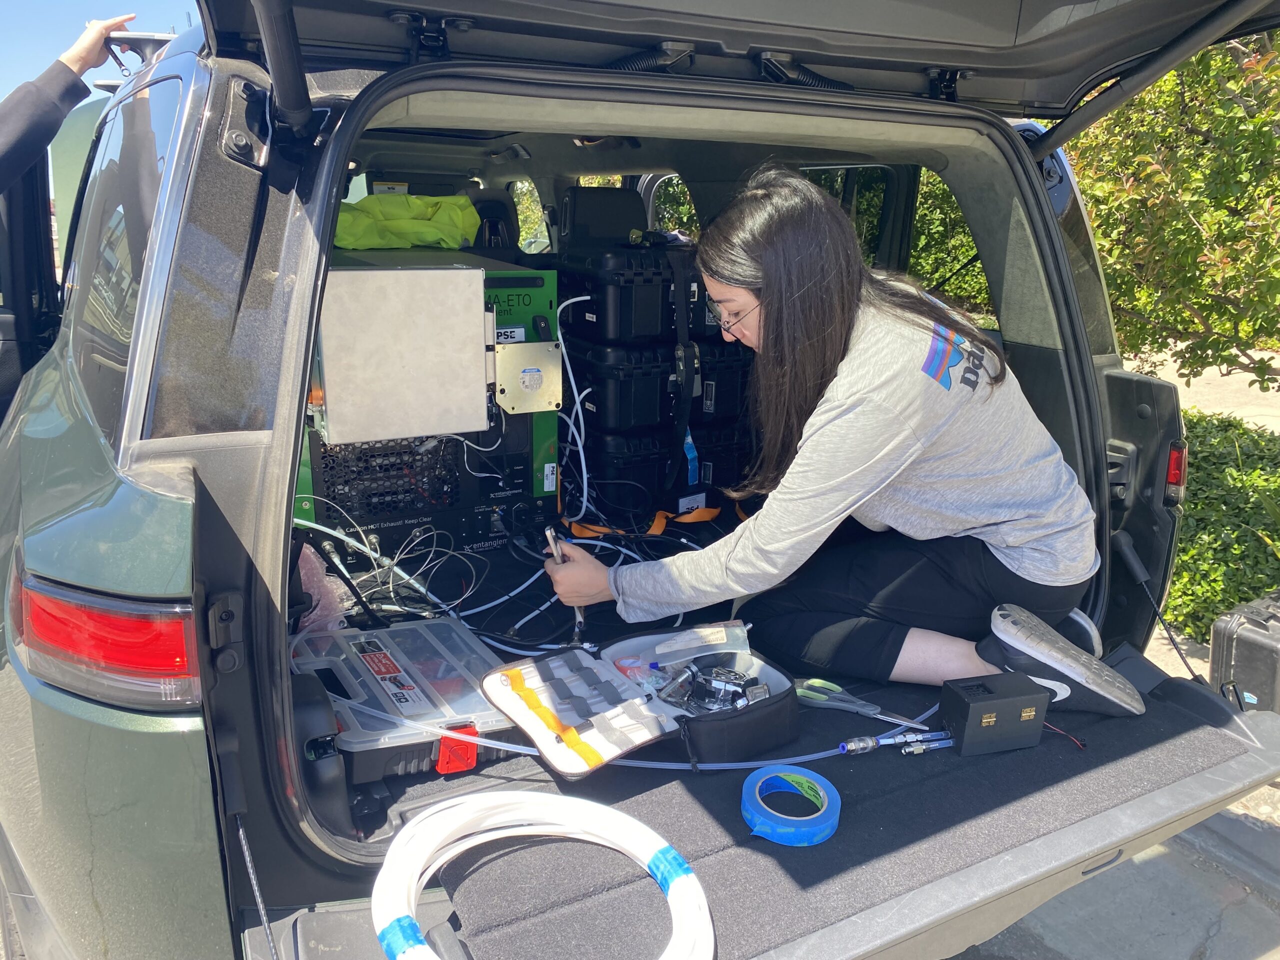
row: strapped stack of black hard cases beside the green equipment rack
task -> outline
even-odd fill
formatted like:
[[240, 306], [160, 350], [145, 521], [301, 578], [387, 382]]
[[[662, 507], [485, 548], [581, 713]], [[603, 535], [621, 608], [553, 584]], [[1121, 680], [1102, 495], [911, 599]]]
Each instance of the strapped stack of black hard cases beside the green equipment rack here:
[[[649, 233], [640, 195], [573, 187], [564, 200], [561, 298], [582, 399], [586, 462], [603, 499], [682, 513], [732, 486], [751, 457], [753, 353], [705, 306], [696, 248]], [[566, 408], [572, 398], [566, 393]], [[632, 486], [639, 484], [648, 503]]]

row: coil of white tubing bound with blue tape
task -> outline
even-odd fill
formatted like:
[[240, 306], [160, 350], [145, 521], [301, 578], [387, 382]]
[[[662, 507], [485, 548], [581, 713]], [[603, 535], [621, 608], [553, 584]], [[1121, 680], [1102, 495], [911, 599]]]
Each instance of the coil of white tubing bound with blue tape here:
[[[649, 870], [659, 886], [667, 881], [671, 941], [660, 960], [713, 960], [716, 931], [707, 895], [666, 840], [612, 806], [558, 794], [511, 790], [442, 800], [401, 828], [378, 873], [371, 906], [374, 929], [390, 960], [440, 960], [421, 941], [412, 920], [422, 888], [458, 854], [508, 837], [585, 840], [626, 854]], [[412, 922], [406, 923], [404, 918]], [[389, 928], [401, 932], [407, 928], [410, 936], [384, 938]]]

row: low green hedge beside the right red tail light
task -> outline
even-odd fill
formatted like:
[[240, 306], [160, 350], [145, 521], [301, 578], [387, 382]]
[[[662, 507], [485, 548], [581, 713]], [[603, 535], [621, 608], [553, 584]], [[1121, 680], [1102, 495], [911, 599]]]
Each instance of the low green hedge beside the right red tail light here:
[[1280, 588], [1280, 557], [1254, 532], [1280, 545], [1280, 524], [1263, 503], [1268, 494], [1280, 499], [1280, 435], [1220, 413], [1183, 417], [1187, 512], [1165, 612], [1178, 630], [1208, 643], [1219, 614]]

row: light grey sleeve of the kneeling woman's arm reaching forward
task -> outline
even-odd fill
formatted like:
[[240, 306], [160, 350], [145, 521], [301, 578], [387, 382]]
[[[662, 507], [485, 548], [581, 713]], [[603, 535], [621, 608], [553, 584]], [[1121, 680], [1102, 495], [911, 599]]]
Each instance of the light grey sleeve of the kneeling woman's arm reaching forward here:
[[777, 586], [919, 452], [910, 426], [876, 399], [833, 412], [801, 443], [764, 507], [732, 534], [704, 550], [611, 567], [618, 616], [657, 620]]

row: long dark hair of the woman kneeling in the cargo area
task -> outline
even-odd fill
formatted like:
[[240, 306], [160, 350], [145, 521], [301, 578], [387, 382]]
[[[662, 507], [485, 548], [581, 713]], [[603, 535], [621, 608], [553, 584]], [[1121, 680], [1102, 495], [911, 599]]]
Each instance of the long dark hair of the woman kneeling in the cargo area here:
[[764, 166], [703, 230], [698, 269], [760, 301], [760, 343], [751, 375], [751, 413], [760, 433], [750, 476], [726, 493], [769, 493], [795, 460], [800, 431], [849, 352], [859, 311], [881, 311], [924, 326], [938, 324], [995, 357], [1005, 356], [972, 320], [913, 287], [877, 276], [863, 264], [854, 224], [836, 201], [803, 175]]

